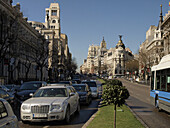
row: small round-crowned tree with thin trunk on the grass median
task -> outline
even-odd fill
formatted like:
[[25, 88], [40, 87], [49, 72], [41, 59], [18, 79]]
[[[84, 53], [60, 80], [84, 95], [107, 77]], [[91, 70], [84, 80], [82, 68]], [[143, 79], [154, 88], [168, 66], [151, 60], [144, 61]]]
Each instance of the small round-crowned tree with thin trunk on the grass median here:
[[125, 99], [129, 97], [129, 92], [119, 80], [107, 81], [106, 85], [102, 95], [102, 104], [114, 104], [114, 128], [116, 128], [116, 106], [120, 107], [125, 103]]

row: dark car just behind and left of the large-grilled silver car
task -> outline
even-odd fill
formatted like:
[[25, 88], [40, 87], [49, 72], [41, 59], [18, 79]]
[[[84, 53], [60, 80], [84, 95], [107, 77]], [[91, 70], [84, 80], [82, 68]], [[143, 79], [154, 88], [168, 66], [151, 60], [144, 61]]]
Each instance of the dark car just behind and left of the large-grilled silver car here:
[[30, 82], [24, 82], [19, 91], [15, 93], [15, 97], [19, 103], [19, 105], [21, 105], [22, 102], [24, 102], [25, 100], [29, 99], [30, 93], [33, 93], [39, 89], [40, 87], [43, 86], [47, 86], [47, 83], [44, 81], [30, 81]]

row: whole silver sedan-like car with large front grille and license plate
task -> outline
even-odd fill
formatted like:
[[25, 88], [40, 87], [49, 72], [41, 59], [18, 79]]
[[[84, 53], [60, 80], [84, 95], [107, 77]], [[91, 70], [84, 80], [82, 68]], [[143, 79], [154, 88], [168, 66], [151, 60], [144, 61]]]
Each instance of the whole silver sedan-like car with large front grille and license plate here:
[[70, 115], [80, 111], [79, 95], [72, 86], [52, 85], [39, 88], [32, 98], [21, 105], [21, 120], [70, 121]]

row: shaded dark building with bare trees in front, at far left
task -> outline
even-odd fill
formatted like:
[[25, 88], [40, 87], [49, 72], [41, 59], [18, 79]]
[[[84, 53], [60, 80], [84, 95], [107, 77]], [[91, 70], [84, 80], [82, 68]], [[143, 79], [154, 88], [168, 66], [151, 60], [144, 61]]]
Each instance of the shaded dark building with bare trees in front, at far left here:
[[28, 24], [19, 3], [12, 6], [12, 0], [0, 1], [0, 41], [1, 84], [48, 78], [48, 41]]

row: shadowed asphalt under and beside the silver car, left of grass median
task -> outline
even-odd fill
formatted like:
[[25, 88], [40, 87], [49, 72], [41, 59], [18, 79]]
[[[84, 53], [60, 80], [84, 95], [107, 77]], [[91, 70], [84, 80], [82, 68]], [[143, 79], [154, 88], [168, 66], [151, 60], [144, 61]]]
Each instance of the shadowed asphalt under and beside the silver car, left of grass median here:
[[79, 114], [74, 114], [71, 116], [70, 124], [66, 125], [63, 121], [53, 121], [53, 122], [41, 122], [41, 123], [29, 123], [23, 124], [20, 120], [18, 111], [16, 112], [19, 119], [20, 128], [81, 128], [90, 117], [98, 110], [98, 104], [101, 97], [101, 85], [97, 82], [99, 86], [99, 98], [93, 99], [90, 105], [81, 104], [81, 110]]

